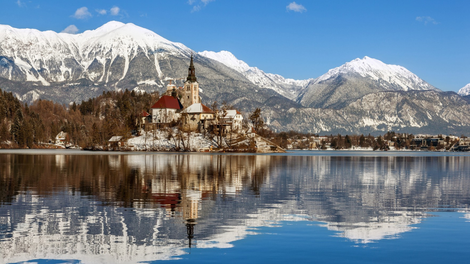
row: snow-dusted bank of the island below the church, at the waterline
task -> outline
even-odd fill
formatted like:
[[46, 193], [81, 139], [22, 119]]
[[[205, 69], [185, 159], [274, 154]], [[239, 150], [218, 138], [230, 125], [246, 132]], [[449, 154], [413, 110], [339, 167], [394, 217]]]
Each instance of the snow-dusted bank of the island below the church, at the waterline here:
[[[169, 136], [169, 132], [172, 136]], [[181, 139], [182, 138], [182, 139]], [[130, 138], [127, 141], [127, 145], [133, 150], [178, 150], [178, 149], [189, 149], [190, 151], [202, 151], [212, 147], [217, 147], [217, 143], [210, 140], [208, 137], [204, 137], [201, 133], [181, 133], [181, 136], [177, 135], [176, 130], [153, 130], [153, 131], [142, 131], [141, 136]]]

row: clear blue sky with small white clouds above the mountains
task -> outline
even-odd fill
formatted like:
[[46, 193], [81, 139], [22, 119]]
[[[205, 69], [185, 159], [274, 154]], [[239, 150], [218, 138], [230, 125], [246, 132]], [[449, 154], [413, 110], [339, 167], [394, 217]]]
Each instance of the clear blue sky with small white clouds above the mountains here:
[[[469, 0], [0, 0], [0, 24], [61, 32], [117, 20], [287, 78], [369, 56], [444, 91], [470, 83]], [[72, 26], [73, 25], [73, 26]]]

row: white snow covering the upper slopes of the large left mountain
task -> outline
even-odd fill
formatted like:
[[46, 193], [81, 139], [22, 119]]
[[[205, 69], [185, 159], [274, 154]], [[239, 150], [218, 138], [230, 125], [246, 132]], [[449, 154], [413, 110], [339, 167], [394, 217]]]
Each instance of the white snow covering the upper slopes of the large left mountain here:
[[[192, 51], [132, 23], [111, 21], [76, 35], [0, 25], [0, 77], [12, 81], [46, 86], [80, 78], [120, 81], [127, 75], [130, 62], [141, 54], [152, 61], [151, 70], [161, 77], [157, 52], [188, 57]], [[115, 62], [119, 66], [110, 70]]]

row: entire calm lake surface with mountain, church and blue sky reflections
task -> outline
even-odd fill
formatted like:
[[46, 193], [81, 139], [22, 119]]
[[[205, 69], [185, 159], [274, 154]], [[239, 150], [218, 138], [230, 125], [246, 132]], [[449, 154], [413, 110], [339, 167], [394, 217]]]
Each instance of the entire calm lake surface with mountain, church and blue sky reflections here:
[[470, 154], [0, 152], [0, 263], [466, 263]]

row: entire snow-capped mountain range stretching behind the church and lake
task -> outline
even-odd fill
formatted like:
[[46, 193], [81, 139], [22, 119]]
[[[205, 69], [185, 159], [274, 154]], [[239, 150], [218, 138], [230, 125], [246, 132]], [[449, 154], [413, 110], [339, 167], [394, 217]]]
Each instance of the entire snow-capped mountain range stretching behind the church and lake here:
[[109, 90], [162, 92], [165, 79], [187, 76], [191, 54], [204, 103], [226, 101], [247, 114], [260, 107], [278, 131], [458, 134], [470, 126], [464, 97], [401, 66], [364, 57], [316, 79], [292, 80], [250, 67], [228, 51], [195, 53], [115, 21], [77, 35], [0, 25], [0, 89], [28, 103], [66, 104]]

